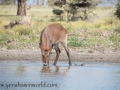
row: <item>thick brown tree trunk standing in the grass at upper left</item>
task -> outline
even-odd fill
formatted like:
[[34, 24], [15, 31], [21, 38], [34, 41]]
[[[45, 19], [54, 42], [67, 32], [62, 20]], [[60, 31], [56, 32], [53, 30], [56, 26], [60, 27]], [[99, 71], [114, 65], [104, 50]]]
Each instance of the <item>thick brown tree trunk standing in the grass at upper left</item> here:
[[17, 15], [26, 16], [26, 0], [18, 0]]

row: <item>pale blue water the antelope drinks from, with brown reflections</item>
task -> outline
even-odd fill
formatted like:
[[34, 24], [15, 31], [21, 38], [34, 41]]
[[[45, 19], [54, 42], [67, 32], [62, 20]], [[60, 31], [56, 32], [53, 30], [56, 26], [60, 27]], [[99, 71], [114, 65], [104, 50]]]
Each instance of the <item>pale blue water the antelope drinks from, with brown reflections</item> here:
[[0, 61], [0, 90], [120, 90], [120, 63]]

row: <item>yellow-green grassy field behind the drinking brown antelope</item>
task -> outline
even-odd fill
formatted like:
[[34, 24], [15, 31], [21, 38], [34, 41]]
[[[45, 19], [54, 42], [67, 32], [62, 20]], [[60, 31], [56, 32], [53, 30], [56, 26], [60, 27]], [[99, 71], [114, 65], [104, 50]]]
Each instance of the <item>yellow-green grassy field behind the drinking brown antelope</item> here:
[[[87, 21], [52, 22], [54, 17], [51, 7], [32, 6], [27, 10], [31, 16], [31, 25], [16, 25], [4, 29], [4, 25], [13, 20], [21, 20], [16, 16], [16, 6], [0, 6], [0, 48], [38, 49], [42, 29], [53, 22], [61, 23], [68, 30], [68, 46], [90, 48], [103, 51], [106, 48], [120, 48], [120, 20], [113, 15], [115, 8], [98, 7]], [[112, 22], [112, 23], [111, 23]]]

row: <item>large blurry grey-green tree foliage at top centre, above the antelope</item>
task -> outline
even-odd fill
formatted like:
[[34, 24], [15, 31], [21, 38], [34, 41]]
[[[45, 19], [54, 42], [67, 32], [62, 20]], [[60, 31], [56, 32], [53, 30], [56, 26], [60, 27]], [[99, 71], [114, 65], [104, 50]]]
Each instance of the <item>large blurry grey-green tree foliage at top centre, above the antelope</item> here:
[[[76, 18], [88, 19], [89, 14], [101, 0], [48, 0], [50, 6], [58, 6], [64, 9], [66, 21], [75, 21]], [[78, 12], [82, 12], [80, 15]]]

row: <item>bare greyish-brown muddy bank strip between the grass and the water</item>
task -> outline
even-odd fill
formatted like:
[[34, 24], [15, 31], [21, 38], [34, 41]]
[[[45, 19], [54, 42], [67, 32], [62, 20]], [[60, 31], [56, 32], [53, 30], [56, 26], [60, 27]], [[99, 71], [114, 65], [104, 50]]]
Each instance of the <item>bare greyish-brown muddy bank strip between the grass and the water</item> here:
[[[70, 50], [71, 61], [80, 62], [120, 62], [120, 53], [85, 53]], [[50, 60], [55, 59], [55, 51], [52, 51]], [[37, 50], [0, 50], [0, 60], [41, 60], [41, 51]], [[59, 57], [61, 61], [67, 61], [65, 51]]]

